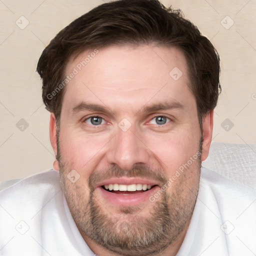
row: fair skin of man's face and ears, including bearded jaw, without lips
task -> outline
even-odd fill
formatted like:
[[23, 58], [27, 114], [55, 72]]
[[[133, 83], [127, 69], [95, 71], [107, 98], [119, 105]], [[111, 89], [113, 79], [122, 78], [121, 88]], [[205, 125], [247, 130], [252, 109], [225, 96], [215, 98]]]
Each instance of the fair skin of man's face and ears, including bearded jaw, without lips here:
[[[91, 51], [70, 59], [66, 74]], [[169, 75], [174, 67], [182, 71], [177, 80]], [[60, 170], [70, 212], [94, 253], [170, 256], [178, 251], [212, 135], [213, 110], [203, 117], [201, 134], [189, 82], [187, 62], [178, 48], [123, 45], [98, 49], [66, 85], [58, 139], [55, 116], [50, 116], [50, 140], [60, 156], [53, 167]], [[107, 112], [80, 109], [81, 102]], [[145, 109], [166, 103], [172, 107]], [[102, 117], [101, 124], [93, 125], [91, 116]], [[157, 124], [157, 116], [166, 116], [166, 122]], [[123, 131], [120, 123], [130, 127]], [[148, 196], [129, 205], [112, 203], [98, 186], [112, 177], [139, 177], [156, 185], [149, 192], [153, 195], [201, 148], [201, 159], [189, 163], [153, 202]], [[80, 175], [74, 183], [67, 178], [72, 169]]]

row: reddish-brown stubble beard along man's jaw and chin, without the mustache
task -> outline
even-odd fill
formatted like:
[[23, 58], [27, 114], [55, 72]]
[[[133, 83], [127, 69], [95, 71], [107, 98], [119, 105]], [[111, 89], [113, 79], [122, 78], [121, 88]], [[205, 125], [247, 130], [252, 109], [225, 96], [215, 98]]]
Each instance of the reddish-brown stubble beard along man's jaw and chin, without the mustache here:
[[[60, 183], [83, 237], [89, 237], [117, 255], [146, 256], [168, 247], [190, 220], [198, 192], [200, 164], [198, 160], [197, 168], [185, 170], [171, 184], [171, 195], [163, 191], [159, 200], [148, 202], [150, 208], [146, 218], [140, 216], [139, 212], [143, 210], [140, 206], [122, 207], [118, 217], [112, 215], [104, 208], [100, 198], [96, 198], [94, 189], [90, 189], [89, 199], [86, 200], [85, 186], [67, 179], [70, 168], [62, 161], [59, 161]], [[194, 171], [198, 173], [198, 184], [191, 191], [186, 187], [186, 181], [189, 175], [194, 175]]]

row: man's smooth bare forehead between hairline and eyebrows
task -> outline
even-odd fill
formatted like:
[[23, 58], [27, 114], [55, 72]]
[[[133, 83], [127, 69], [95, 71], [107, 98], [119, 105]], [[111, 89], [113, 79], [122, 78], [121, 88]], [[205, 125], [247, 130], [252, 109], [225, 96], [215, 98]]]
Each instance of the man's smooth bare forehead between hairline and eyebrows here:
[[66, 85], [63, 106], [86, 101], [135, 109], [149, 101], [194, 103], [187, 61], [177, 47], [114, 45], [90, 49], [67, 63], [65, 74], [71, 73], [75, 74]]

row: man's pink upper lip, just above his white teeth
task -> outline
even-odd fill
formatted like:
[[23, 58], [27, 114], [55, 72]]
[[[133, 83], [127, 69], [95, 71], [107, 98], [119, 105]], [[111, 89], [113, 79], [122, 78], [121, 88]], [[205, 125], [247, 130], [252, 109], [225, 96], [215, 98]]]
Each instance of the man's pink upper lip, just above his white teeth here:
[[96, 184], [96, 187], [107, 185], [107, 184], [123, 184], [123, 185], [131, 185], [131, 184], [147, 184], [147, 185], [157, 185], [157, 181], [152, 181], [149, 179], [138, 178], [138, 177], [121, 177], [121, 178], [109, 178], [103, 180]]

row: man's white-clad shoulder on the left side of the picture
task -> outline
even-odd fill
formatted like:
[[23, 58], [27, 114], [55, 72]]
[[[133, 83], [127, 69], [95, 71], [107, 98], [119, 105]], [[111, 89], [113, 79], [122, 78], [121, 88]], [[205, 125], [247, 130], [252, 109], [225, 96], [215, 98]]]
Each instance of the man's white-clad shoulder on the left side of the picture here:
[[[64, 202], [58, 171], [55, 170], [24, 178], [2, 190], [1, 253], [82, 255], [78, 253], [81, 248], [77, 244], [77, 235], [74, 237], [73, 234], [76, 226], [71, 214], [66, 215]], [[78, 239], [82, 238], [78, 236]], [[88, 248], [84, 247], [86, 254]]]

